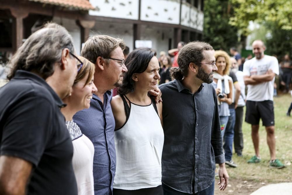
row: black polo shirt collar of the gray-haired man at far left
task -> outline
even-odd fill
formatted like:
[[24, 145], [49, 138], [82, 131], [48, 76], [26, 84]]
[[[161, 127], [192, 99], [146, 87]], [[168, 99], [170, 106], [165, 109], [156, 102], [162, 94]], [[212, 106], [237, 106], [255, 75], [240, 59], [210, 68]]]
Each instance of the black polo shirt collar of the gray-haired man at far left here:
[[55, 100], [55, 103], [57, 104], [59, 108], [64, 108], [66, 106], [66, 104], [63, 103], [63, 101], [56, 94], [56, 92], [50, 87], [50, 85], [48, 85], [48, 83], [43, 78], [39, 77], [38, 75], [26, 70], [17, 70], [13, 79], [29, 79], [29, 80], [32, 80], [33, 82], [40, 84], [41, 86], [48, 89], [48, 91], [52, 94]]

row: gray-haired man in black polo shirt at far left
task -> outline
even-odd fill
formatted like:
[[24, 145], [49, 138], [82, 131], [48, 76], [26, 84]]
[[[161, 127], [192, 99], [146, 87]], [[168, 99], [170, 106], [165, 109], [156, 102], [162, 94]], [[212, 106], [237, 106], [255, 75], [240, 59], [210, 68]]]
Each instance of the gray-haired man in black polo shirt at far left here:
[[49, 23], [20, 46], [10, 66], [10, 82], [0, 88], [0, 194], [77, 195], [60, 112], [82, 66], [72, 37]]

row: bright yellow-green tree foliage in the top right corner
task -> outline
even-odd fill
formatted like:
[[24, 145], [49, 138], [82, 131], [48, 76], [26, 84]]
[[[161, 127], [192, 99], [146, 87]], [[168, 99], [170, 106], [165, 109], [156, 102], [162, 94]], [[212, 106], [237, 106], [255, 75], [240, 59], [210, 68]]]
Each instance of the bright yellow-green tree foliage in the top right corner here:
[[291, 0], [231, 0], [234, 16], [230, 24], [236, 26], [241, 34], [248, 35], [248, 23], [273, 23], [282, 30], [292, 29]]

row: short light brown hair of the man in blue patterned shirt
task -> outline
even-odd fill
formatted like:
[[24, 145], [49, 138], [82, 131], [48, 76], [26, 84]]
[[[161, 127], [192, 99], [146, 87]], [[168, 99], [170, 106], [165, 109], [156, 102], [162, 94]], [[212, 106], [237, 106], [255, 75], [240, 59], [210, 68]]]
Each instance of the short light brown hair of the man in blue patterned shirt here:
[[112, 51], [117, 47], [121, 47], [124, 51], [126, 44], [119, 38], [107, 35], [94, 35], [84, 43], [81, 49], [81, 56], [95, 64], [99, 56], [106, 58], [111, 57]]

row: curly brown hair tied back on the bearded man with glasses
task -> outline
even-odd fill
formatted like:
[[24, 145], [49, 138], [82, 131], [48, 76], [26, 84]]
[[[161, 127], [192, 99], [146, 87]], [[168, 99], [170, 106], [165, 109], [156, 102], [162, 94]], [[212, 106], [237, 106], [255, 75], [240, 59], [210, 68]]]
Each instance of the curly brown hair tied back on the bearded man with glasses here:
[[191, 62], [201, 66], [200, 62], [204, 60], [204, 50], [213, 50], [213, 47], [205, 42], [194, 41], [183, 46], [178, 54], [178, 68], [171, 68], [170, 74], [173, 79], [182, 80], [189, 73]]

